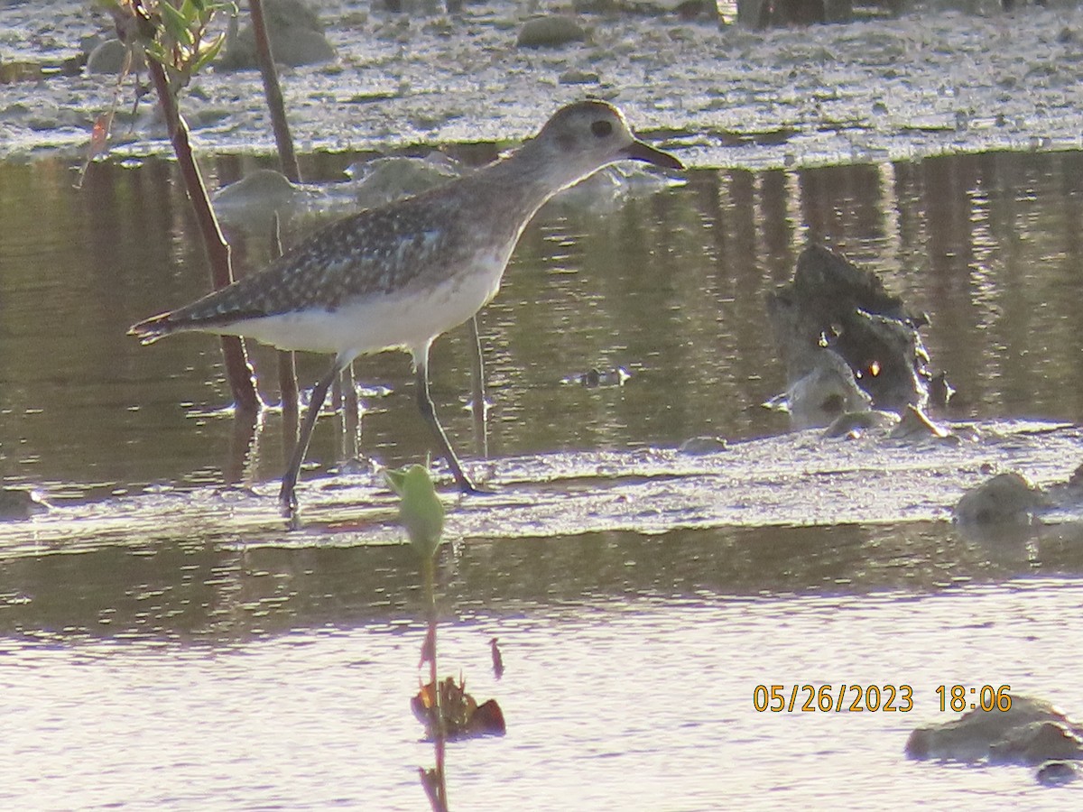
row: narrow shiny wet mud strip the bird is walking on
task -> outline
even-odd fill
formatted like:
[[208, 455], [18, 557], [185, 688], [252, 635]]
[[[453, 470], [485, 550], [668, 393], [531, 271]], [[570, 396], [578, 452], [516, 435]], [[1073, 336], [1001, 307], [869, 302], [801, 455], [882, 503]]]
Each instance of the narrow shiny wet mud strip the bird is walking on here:
[[[812, 430], [736, 443], [707, 455], [656, 448], [494, 459], [484, 464], [494, 494], [460, 498], [443, 488], [448, 507], [455, 506], [448, 534], [544, 538], [949, 522], [963, 492], [988, 480], [991, 471], [1021, 468], [1036, 482], [1059, 483], [1067, 477], [1066, 460], [1080, 446], [1080, 429], [1067, 424], [989, 422], [981, 429], [980, 438], [958, 444], [874, 436], [840, 441]], [[255, 543], [285, 538], [304, 543], [328, 534], [338, 543], [401, 541], [396, 501], [380, 475], [310, 476], [298, 493], [299, 533], [287, 531], [278, 515], [275, 481], [253, 488], [170, 489], [57, 509], [25, 523], [0, 524], [0, 545], [13, 554], [17, 543], [11, 542], [27, 538], [27, 529], [37, 549], [75, 539], [93, 546], [117, 535], [186, 537], [193, 527]], [[1079, 509], [1068, 503], [1045, 521], [1074, 526]], [[1025, 525], [1008, 529], [1030, 533]]]

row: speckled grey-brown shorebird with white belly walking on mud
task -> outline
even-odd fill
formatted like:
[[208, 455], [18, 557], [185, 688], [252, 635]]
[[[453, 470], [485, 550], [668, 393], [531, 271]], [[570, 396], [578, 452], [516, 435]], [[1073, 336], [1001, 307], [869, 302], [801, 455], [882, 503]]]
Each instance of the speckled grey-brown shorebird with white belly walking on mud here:
[[297, 479], [328, 388], [356, 356], [383, 350], [410, 353], [421, 415], [459, 488], [479, 493], [436, 419], [429, 348], [496, 296], [519, 236], [546, 200], [624, 159], [683, 168], [639, 141], [613, 105], [570, 104], [508, 157], [416, 197], [343, 218], [262, 271], [140, 322], [129, 335], [148, 344], [194, 330], [335, 356], [312, 390], [283, 475], [278, 499], [287, 518], [296, 518]]

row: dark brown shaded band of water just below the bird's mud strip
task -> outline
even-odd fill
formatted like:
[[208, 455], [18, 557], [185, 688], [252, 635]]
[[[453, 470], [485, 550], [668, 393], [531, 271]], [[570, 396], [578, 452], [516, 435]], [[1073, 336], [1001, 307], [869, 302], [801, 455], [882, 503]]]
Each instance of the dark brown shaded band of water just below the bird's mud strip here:
[[[0, 562], [0, 636], [231, 643], [298, 629], [410, 628], [425, 600], [405, 546], [103, 546]], [[944, 525], [605, 533], [443, 551], [443, 612], [593, 601], [921, 594], [1083, 575], [1080, 531], [964, 537]]]

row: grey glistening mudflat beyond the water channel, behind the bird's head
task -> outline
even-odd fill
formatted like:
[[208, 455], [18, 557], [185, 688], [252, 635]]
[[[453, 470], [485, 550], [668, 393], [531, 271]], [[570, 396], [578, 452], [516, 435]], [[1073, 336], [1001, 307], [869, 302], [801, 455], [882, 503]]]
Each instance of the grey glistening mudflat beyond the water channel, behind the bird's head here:
[[[519, 49], [536, 10], [468, 5], [392, 15], [313, 4], [339, 58], [284, 71], [299, 150], [388, 150], [529, 136], [557, 105], [611, 99], [691, 166], [883, 162], [991, 149], [1075, 149], [1083, 132], [1083, 11], [930, 11], [751, 31], [676, 14], [580, 14], [589, 40]], [[4, 61], [62, 61], [107, 34], [81, 3], [4, 6]], [[567, 83], [569, 77], [588, 80]], [[590, 80], [590, 77], [597, 80]], [[0, 158], [76, 157], [113, 101], [106, 76], [0, 86]], [[213, 71], [184, 100], [197, 148], [273, 152], [256, 71]], [[112, 155], [165, 154], [153, 105], [121, 94]]]

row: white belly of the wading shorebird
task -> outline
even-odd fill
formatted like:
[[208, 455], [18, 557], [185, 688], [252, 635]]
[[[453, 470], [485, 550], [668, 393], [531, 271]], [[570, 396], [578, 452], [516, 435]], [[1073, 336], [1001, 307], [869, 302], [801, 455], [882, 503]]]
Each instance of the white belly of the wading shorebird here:
[[279, 350], [334, 353], [342, 358], [391, 349], [416, 353], [469, 319], [496, 294], [504, 263], [495, 266], [484, 263], [434, 285], [366, 297], [332, 311], [314, 307], [261, 316], [217, 331], [253, 338]]

